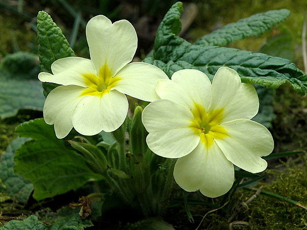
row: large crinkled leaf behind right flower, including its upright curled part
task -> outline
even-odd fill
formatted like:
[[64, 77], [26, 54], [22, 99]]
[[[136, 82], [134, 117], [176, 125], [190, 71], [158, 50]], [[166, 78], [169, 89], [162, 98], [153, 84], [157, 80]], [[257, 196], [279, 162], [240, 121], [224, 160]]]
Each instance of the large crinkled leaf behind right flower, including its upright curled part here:
[[179, 38], [177, 15], [181, 10], [181, 2], [177, 2], [166, 13], [157, 31], [153, 57], [145, 62], [161, 68], [169, 77], [181, 69], [198, 69], [211, 80], [218, 68], [228, 66], [238, 72], [242, 82], [271, 89], [288, 82], [296, 92], [307, 93], [307, 74], [287, 59], [235, 48], [192, 45]]

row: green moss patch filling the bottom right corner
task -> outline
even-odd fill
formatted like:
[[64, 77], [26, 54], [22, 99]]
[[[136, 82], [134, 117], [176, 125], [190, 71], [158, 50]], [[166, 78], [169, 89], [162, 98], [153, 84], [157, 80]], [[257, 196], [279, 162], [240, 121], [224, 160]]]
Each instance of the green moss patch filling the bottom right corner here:
[[[288, 167], [282, 173], [271, 171], [277, 177], [263, 184], [265, 190], [285, 196], [307, 206], [307, 158], [305, 163]], [[307, 210], [272, 197], [260, 195], [249, 205], [251, 230], [299, 230], [307, 228]]]

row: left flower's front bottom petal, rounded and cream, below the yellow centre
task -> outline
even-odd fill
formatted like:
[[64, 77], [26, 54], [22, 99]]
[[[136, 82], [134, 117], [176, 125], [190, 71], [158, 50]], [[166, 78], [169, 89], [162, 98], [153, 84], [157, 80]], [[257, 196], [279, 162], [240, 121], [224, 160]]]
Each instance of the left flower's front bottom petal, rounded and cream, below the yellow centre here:
[[127, 116], [127, 97], [117, 91], [97, 95], [86, 95], [72, 113], [75, 130], [82, 135], [96, 135], [102, 130], [112, 132], [118, 129]]

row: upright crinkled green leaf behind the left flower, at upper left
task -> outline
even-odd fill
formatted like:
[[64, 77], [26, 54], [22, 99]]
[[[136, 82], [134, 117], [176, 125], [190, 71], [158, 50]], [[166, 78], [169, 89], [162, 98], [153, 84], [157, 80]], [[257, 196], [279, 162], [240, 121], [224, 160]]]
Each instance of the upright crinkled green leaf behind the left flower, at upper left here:
[[[37, 15], [37, 37], [42, 72], [51, 73], [51, 64], [59, 58], [75, 56], [61, 29], [45, 11], [40, 11]], [[44, 95], [47, 96], [56, 86], [43, 83]]]

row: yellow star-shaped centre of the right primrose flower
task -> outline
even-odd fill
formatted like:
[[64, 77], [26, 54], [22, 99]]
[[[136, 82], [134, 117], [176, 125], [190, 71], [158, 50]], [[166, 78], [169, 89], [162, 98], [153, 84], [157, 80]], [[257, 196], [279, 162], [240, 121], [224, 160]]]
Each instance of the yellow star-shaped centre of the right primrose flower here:
[[195, 103], [191, 112], [194, 120], [191, 121], [190, 128], [200, 136], [207, 149], [213, 144], [213, 139], [222, 139], [228, 136], [226, 129], [220, 126], [224, 118], [223, 108], [207, 113], [202, 105]]

